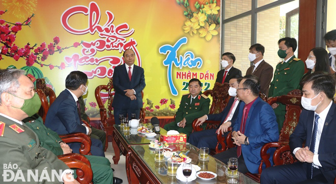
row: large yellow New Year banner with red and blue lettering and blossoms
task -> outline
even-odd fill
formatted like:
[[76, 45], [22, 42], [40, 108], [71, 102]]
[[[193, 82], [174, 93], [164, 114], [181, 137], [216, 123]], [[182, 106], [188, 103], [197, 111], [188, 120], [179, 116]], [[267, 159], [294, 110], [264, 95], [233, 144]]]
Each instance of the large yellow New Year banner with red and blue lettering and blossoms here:
[[[100, 116], [96, 87], [109, 82], [128, 48], [145, 70], [147, 116], [175, 115], [192, 78], [201, 80], [203, 91], [213, 88], [220, 59], [220, 2], [14, 2], [0, 4], [0, 67], [21, 68], [32, 80], [44, 78], [57, 95], [71, 71], [85, 72], [90, 117]], [[105, 102], [107, 92], [102, 98]]]

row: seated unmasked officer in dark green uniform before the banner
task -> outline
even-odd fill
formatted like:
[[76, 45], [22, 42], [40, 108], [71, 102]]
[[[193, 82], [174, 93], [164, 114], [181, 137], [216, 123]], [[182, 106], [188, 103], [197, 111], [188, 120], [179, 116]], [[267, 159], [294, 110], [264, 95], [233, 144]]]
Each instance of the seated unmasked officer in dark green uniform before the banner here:
[[189, 93], [184, 94], [181, 104], [176, 112], [175, 121], [164, 126], [164, 129], [177, 130], [187, 134], [192, 132], [192, 121], [209, 113], [210, 99], [201, 92], [201, 81], [189, 81]]

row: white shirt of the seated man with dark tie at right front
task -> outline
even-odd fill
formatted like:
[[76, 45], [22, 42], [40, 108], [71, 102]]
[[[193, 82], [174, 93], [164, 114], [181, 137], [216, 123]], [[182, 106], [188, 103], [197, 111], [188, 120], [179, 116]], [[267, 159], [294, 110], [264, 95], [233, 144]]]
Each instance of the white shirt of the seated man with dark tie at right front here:
[[[321, 134], [322, 134], [322, 130], [323, 130], [323, 126], [324, 126], [324, 122], [325, 119], [327, 118], [329, 109], [331, 107], [331, 104], [333, 102], [330, 101], [329, 105], [320, 113], [314, 113], [314, 119], [315, 119], [315, 115], [319, 115], [319, 124], [317, 127], [317, 134], [316, 134], [316, 142], [315, 142], [315, 150], [314, 150], [314, 156], [313, 156], [313, 166], [318, 168], [318, 166], [322, 167], [320, 161], [319, 161], [319, 144], [320, 144], [320, 139], [321, 139]], [[315, 126], [315, 120], [313, 120], [313, 130], [314, 131], [314, 126]], [[312, 132], [312, 136], [313, 136], [313, 132]], [[299, 150], [300, 148], [296, 148], [293, 151], [293, 154], [295, 155], [295, 153]]]

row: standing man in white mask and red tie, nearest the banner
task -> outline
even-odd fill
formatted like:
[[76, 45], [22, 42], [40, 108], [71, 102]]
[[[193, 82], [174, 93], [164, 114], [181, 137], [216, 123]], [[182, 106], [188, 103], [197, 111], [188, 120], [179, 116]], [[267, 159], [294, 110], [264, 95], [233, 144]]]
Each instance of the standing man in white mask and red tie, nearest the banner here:
[[220, 64], [224, 69], [218, 71], [216, 82], [220, 84], [229, 83], [233, 76], [241, 76], [241, 71], [233, 67], [235, 61], [236, 57], [231, 52], [226, 52], [221, 55]]

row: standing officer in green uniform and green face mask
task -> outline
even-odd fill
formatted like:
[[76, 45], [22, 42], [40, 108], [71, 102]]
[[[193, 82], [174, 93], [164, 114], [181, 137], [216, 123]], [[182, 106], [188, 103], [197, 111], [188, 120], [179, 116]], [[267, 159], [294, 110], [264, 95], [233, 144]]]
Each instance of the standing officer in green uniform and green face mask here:
[[[299, 83], [304, 73], [304, 62], [295, 57], [294, 52], [297, 42], [294, 38], [283, 38], [278, 41], [277, 55], [284, 61], [276, 65], [274, 78], [269, 88], [268, 97], [287, 95], [288, 92], [299, 89]], [[286, 106], [281, 103], [273, 103], [272, 108], [276, 115], [279, 132], [283, 127], [286, 114]]]

